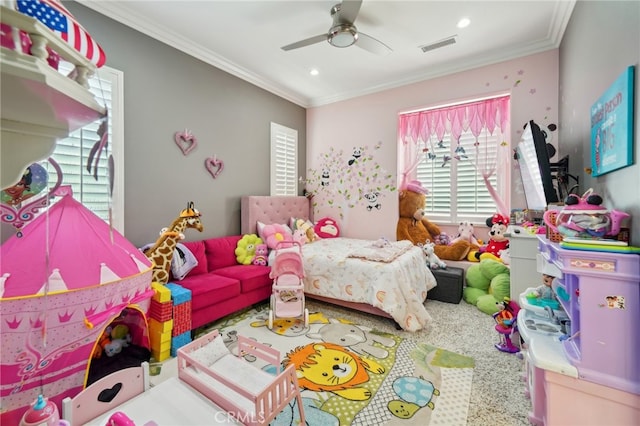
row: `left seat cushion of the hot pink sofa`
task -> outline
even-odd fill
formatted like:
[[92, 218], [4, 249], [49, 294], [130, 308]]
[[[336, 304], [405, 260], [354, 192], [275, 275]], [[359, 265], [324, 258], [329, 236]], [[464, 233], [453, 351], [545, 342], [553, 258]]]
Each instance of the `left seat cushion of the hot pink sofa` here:
[[213, 273], [187, 276], [180, 285], [191, 290], [191, 310], [216, 309], [216, 305], [240, 295], [240, 281]]

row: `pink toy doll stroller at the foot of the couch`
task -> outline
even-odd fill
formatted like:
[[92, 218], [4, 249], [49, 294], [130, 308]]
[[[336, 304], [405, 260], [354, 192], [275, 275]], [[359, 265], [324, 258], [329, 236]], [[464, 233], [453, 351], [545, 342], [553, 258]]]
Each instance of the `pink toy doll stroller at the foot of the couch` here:
[[304, 268], [302, 246], [295, 241], [278, 243], [269, 278], [273, 279], [269, 305], [269, 330], [276, 318], [303, 317], [304, 326], [309, 325], [309, 310], [304, 301]]

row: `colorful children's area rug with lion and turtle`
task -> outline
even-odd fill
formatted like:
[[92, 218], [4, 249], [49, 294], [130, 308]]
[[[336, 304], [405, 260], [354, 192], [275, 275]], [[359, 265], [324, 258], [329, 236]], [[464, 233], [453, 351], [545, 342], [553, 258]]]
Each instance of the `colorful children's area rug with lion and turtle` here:
[[[276, 318], [269, 329], [268, 318], [260, 307], [208, 331], [217, 329], [232, 353], [244, 335], [278, 349], [283, 367], [293, 363], [307, 425], [466, 425], [472, 358], [319, 312], [307, 327]], [[271, 425], [297, 425], [298, 417], [294, 400]]]

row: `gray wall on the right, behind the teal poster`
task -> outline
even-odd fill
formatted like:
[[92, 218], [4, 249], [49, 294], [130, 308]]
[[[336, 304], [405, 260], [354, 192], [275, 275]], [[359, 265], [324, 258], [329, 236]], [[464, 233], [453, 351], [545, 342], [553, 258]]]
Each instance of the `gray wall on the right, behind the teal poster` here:
[[[640, 2], [578, 1], [560, 45], [559, 150], [569, 155], [580, 190], [593, 188], [605, 205], [633, 218], [632, 243], [640, 245]], [[591, 105], [629, 66], [636, 66], [634, 165], [596, 178], [591, 166]]]

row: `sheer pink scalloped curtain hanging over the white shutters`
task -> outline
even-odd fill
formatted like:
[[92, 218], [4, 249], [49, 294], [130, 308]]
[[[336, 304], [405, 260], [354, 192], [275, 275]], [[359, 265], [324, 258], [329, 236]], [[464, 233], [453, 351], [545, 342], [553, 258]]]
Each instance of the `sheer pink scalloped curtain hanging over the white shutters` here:
[[[398, 170], [400, 182], [398, 188], [404, 189], [415, 175], [415, 170], [428, 150], [431, 138], [442, 140], [446, 132], [451, 133], [451, 140], [455, 143], [463, 132], [470, 131], [476, 137], [475, 155], [470, 155], [476, 170], [482, 176], [487, 189], [496, 202], [498, 211], [508, 215], [509, 211], [496, 190], [490, 185], [489, 177], [499, 172], [499, 168], [508, 161], [498, 158], [488, 158], [483, 154], [482, 140], [478, 138], [482, 129], [494, 134], [499, 131], [508, 134], [509, 126], [509, 96], [484, 99], [444, 108], [417, 111], [400, 114], [398, 123], [398, 138], [400, 150], [398, 155]], [[503, 150], [499, 150], [503, 151]]]

